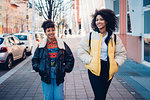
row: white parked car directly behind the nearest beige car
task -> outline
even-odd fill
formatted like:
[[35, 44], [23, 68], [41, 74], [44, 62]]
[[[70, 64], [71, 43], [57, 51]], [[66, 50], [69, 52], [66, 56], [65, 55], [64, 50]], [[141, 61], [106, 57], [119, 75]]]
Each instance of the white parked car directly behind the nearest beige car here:
[[21, 42], [26, 45], [27, 53], [31, 54], [32, 52], [32, 34], [29, 33], [16, 33], [14, 34]]

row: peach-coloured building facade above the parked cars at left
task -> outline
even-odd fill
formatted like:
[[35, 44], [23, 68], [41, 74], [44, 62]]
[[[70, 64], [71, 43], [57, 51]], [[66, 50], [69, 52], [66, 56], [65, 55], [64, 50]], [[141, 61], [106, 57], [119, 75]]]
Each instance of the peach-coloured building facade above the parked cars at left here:
[[26, 30], [25, 0], [0, 0], [0, 33], [16, 33]]

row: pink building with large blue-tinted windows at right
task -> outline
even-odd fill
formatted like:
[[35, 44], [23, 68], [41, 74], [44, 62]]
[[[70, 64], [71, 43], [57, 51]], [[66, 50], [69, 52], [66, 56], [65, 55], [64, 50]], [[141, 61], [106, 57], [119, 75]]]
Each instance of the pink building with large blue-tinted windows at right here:
[[125, 45], [128, 58], [150, 66], [150, 1], [113, 0], [109, 5], [113, 5], [111, 9], [119, 19], [116, 34]]

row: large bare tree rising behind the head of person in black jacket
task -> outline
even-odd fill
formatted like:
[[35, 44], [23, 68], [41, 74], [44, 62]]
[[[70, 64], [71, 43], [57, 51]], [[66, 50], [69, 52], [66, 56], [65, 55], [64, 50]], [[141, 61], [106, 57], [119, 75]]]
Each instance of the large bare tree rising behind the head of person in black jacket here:
[[[37, 8], [43, 13], [45, 20], [51, 19], [55, 21], [56, 28], [58, 30], [57, 36], [59, 37], [60, 26], [65, 23], [64, 21], [64, 10], [66, 4], [71, 3], [71, 1], [64, 4], [64, 0], [38, 0]], [[71, 7], [70, 7], [71, 8]], [[64, 25], [63, 25], [64, 26]]]

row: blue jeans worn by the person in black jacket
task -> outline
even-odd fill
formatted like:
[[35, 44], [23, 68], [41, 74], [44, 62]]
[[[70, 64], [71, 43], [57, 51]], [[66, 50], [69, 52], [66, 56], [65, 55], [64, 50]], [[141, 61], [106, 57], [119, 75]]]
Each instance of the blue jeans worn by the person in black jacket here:
[[51, 67], [51, 84], [42, 81], [44, 100], [64, 100], [63, 83], [57, 86], [55, 67]]

